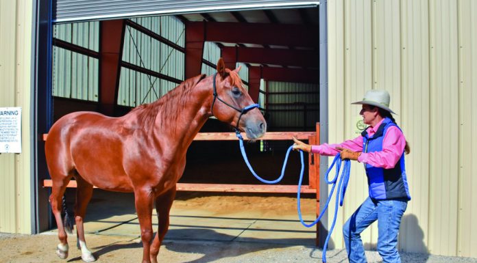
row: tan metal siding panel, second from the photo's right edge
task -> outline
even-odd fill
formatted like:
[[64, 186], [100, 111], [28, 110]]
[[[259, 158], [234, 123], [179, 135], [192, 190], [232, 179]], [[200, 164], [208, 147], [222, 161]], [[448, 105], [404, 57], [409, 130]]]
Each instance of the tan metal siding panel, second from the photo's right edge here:
[[431, 1], [429, 8], [430, 149], [432, 150], [429, 151], [430, 238], [428, 248], [431, 253], [439, 251], [445, 255], [455, 255], [458, 229], [457, 2]]

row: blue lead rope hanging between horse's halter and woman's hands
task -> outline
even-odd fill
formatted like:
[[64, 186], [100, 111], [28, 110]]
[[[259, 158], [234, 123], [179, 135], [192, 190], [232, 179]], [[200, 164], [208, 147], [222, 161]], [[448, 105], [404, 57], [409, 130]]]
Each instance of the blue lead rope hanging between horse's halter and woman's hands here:
[[[289, 154], [290, 154], [291, 150], [293, 150], [293, 146], [290, 146], [289, 149], [286, 151], [285, 160], [284, 160], [283, 166], [282, 166], [282, 174], [280, 175], [280, 177], [276, 180], [265, 180], [265, 179], [261, 178], [260, 176], [258, 176], [256, 174], [256, 172], [254, 171], [254, 169], [252, 168], [252, 165], [250, 165], [250, 163], [248, 161], [248, 158], [247, 158], [247, 154], [245, 153], [245, 148], [243, 147], [243, 137], [242, 137], [242, 135], [237, 132], [236, 137], [238, 138], [238, 142], [240, 143], [240, 150], [242, 152], [243, 160], [245, 161], [245, 163], [247, 164], [247, 167], [249, 167], [249, 170], [252, 172], [252, 174], [255, 176], [255, 178], [260, 180], [260, 182], [264, 182], [265, 184], [276, 184], [277, 182], [280, 182], [282, 180], [282, 178], [285, 174], [286, 163], [288, 163]], [[319, 216], [317, 217], [317, 219], [315, 221], [313, 221], [313, 223], [307, 224], [302, 218], [302, 208], [301, 208], [301, 202], [300, 202], [300, 189], [302, 189], [303, 174], [304, 174], [304, 168], [305, 168], [303, 151], [300, 150], [299, 154], [300, 154], [300, 159], [301, 159], [301, 162], [302, 162], [302, 169], [300, 170], [300, 174], [299, 174], [298, 190], [297, 190], [298, 217], [299, 217], [299, 221], [302, 223], [302, 225], [304, 225], [305, 227], [313, 227], [313, 225], [316, 225], [319, 222], [321, 217], [323, 217], [323, 214], [325, 214], [326, 210], [328, 209], [328, 204], [330, 204], [331, 197], [334, 193], [334, 188], [337, 185], [339, 171], [341, 169], [341, 157], [340, 157], [339, 154], [337, 154], [337, 156], [334, 156], [333, 162], [331, 163], [330, 167], [326, 171], [326, 174], [325, 174], [326, 183], [327, 184], [332, 184], [332, 188], [331, 188], [331, 191], [330, 191], [330, 195], [328, 195], [328, 199], [326, 200], [326, 204], [325, 204], [323, 210], [321, 210], [321, 212], [319, 213]], [[336, 164], [336, 167], [335, 167], [336, 174], [335, 174], [335, 176], [332, 180], [328, 180], [328, 176], [330, 174], [330, 171], [332, 170], [332, 168], [335, 164]], [[333, 232], [334, 225], [337, 222], [338, 204], [339, 204], [339, 206], [343, 206], [343, 200], [345, 199], [346, 187], [347, 187], [348, 181], [350, 180], [350, 167], [351, 167], [351, 162], [350, 162], [350, 160], [346, 159], [344, 167], [343, 167], [343, 171], [341, 172], [341, 177], [339, 178], [339, 182], [338, 182], [338, 191], [337, 191], [336, 203], [335, 203], [335, 206], [334, 206], [333, 223], [330, 227], [330, 231], [328, 232], [328, 236], [326, 236], [325, 244], [323, 245], [323, 254], [322, 254], [323, 262], [326, 262], [326, 249], [328, 247], [328, 242], [329, 242], [331, 234]]]

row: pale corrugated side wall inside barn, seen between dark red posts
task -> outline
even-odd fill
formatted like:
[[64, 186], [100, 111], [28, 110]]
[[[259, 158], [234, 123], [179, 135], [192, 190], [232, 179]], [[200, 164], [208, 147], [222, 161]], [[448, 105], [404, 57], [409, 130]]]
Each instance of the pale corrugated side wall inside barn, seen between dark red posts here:
[[[184, 23], [173, 16], [131, 18], [131, 20], [178, 46], [185, 46]], [[98, 21], [58, 24], [53, 28], [54, 38], [99, 51]], [[220, 53], [219, 46], [214, 42], [204, 43], [203, 58], [207, 61], [217, 63]], [[184, 80], [184, 53], [130, 26], [126, 26], [125, 30], [123, 61]], [[242, 66], [239, 74], [244, 81], [248, 81], [248, 68]], [[53, 96], [98, 101], [98, 70], [98, 59], [53, 46]], [[211, 75], [215, 72], [215, 68], [202, 64], [201, 73]], [[136, 107], [143, 103], [154, 102], [177, 85], [171, 81], [121, 68], [118, 105]], [[248, 88], [247, 85], [244, 86]]]

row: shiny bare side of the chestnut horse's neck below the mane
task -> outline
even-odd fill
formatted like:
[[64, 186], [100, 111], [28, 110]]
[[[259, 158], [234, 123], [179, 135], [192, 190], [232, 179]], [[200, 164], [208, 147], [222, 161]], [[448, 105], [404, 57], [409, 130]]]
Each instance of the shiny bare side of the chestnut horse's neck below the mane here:
[[[210, 115], [210, 106], [212, 105], [212, 83], [210, 78], [200, 81], [195, 87], [191, 87], [190, 94], [187, 94], [189, 101], [183, 107], [177, 110], [177, 119], [170, 120], [170, 123], [160, 123], [161, 118], [156, 119], [155, 128], [159, 131], [156, 136], [167, 136], [168, 143], [171, 146], [186, 150], [192, 143], [195, 135], [200, 128], [204, 126]], [[176, 96], [175, 100], [180, 100], [180, 96]], [[170, 101], [177, 103], [179, 101]], [[163, 119], [162, 119], [163, 120]]]

